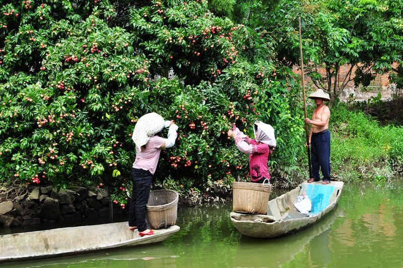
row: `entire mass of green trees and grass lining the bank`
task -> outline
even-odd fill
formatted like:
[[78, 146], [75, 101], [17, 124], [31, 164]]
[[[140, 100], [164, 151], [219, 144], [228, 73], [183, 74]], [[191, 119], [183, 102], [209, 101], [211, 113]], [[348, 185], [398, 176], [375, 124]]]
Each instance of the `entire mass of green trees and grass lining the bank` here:
[[107, 186], [125, 203], [135, 159], [130, 135], [140, 116], [158, 112], [179, 126], [176, 146], [161, 154], [158, 187], [196, 201], [226, 196], [248, 173], [247, 155], [226, 131], [235, 123], [253, 136], [256, 119], [276, 129], [268, 163], [274, 183], [295, 185], [307, 176], [292, 72], [299, 16], [308, 75], [334, 103], [333, 170], [345, 180], [401, 173], [401, 128], [339, 104], [343, 83], [334, 83], [349, 63], [360, 65], [356, 83], [393, 71], [399, 88], [400, 2], [0, 3], [1, 182]]

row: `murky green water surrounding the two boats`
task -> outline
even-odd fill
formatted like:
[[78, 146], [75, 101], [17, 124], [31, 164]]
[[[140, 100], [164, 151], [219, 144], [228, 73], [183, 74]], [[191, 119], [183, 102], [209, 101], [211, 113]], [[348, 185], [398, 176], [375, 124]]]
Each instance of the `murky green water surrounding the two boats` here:
[[231, 204], [180, 208], [181, 231], [159, 245], [8, 266], [403, 266], [403, 186], [347, 184], [339, 205], [321, 222], [274, 240], [241, 236], [229, 220], [231, 208]]

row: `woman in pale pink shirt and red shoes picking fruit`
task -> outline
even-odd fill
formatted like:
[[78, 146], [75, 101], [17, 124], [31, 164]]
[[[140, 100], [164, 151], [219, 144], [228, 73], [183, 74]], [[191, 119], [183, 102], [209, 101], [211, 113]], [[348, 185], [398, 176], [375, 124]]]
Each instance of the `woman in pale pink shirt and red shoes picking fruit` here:
[[[169, 127], [166, 139], [156, 135], [164, 127]], [[175, 145], [177, 130], [173, 121], [164, 121], [160, 115], [150, 113], [139, 119], [133, 131], [131, 138], [136, 143], [136, 160], [131, 169], [133, 191], [129, 205], [129, 230], [137, 228], [140, 236], [154, 234], [146, 225], [146, 205], [161, 149]]]

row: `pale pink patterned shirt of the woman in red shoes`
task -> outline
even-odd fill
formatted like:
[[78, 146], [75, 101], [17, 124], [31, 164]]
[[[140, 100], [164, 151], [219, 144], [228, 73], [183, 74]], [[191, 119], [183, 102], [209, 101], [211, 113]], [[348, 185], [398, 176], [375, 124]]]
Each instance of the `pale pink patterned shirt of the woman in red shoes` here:
[[160, 147], [164, 142], [164, 138], [151, 136], [145, 150], [140, 151], [136, 146], [136, 160], [133, 163], [133, 168], [148, 170], [154, 175], [160, 158]]

